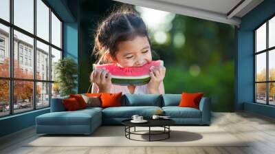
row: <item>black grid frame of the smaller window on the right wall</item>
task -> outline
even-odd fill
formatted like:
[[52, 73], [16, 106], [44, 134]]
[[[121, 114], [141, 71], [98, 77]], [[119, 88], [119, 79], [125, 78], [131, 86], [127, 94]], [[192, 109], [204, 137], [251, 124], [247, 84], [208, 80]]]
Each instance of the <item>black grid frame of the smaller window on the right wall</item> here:
[[[257, 99], [256, 99], [256, 84], [257, 83], [265, 83], [265, 105], [268, 105], [268, 106], [272, 106], [274, 107], [275, 104], [270, 104], [270, 94], [269, 94], [269, 85], [270, 83], [275, 83], [275, 80], [270, 80], [270, 69], [269, 69], [269, 54], [270, 52], [272, 52], [272, 50], [275, 50], [275, 46], [274, 47], [269, 47], [269, 21], [270, 19], [272, 18], [275, 18], [275, 14], [272, 14], [272, 16], [270, 16], [268, 19], [266, 19], [263, 23], [261, 23], [258, 27], [256, 27], [254, 30], [253, 30], [253, 36], [254, 36], [254, 53], [253, 53], [253, 58], [254, 58], [254, 103], [256, 104], [264, 104], [264, 103], [261, 103], [261, 102], [257, 102]], [[265, 45], [265, 50], [261, 50], [259, 52], [256, 51], [256, 30], [259, 30], [259, 28], [261, 28], [262, 25], [266, 24], [266, 45]], [[265, 67], [266, 67], [266, 71], [265, 71], [265, 81], [256, 81], [256, 56], [259, 55], [259, 54], [263, 54], [265, 53], [265, 60], [266, 60], [266, 64], [265, 64]]]

